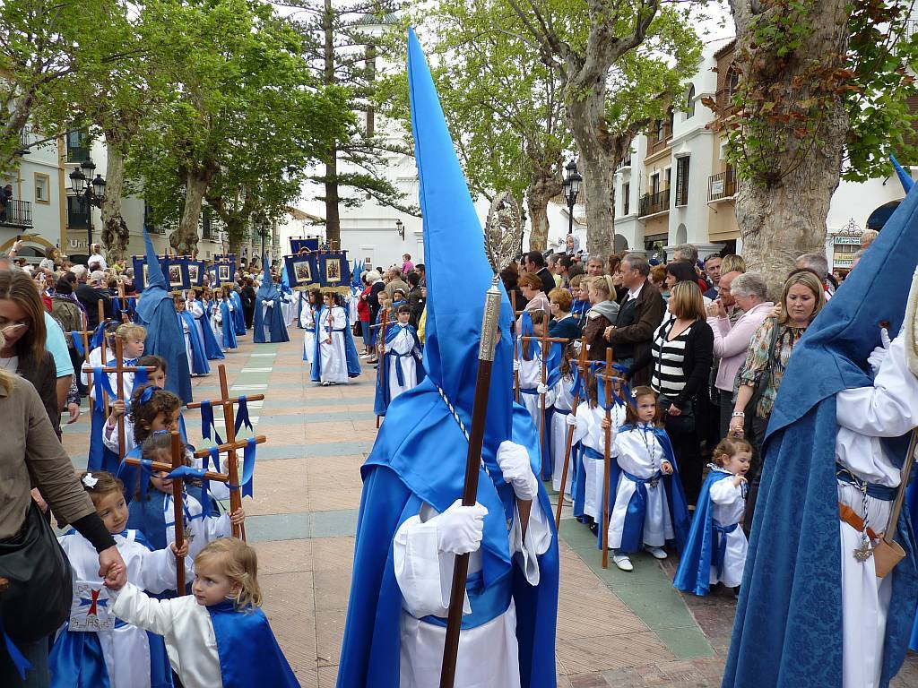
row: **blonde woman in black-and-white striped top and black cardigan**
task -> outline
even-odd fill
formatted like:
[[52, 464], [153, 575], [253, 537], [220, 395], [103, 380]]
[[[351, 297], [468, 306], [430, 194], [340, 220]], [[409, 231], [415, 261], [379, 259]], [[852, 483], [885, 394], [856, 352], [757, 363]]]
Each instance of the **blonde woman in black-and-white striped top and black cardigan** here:
[[672, 317], [656, 328], [650, 350], [634, 361], [629, 376], [645, 365], [652, 366], [650, 386], [660, 395], [666, 434], [673, 443], [686, 498], [694, 504], [702, 468], [695, 397], [711, 373], [714, 333], [705, 317], [698, 284], [674, 284], [666, 309]]

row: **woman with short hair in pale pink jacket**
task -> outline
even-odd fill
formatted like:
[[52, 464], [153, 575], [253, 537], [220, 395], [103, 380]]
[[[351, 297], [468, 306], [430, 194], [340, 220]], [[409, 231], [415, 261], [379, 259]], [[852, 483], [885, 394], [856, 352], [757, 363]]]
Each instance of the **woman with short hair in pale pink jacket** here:
[[714, 386], [720, 392], [721, 437], [727, 436], [733, 413], [733, 383], [736, 372], [745, 361], [749, 341], [756, 329], [765, 322], [775, 305], [768, 301], [765, 278], [756, 272], [736, 275], [730, 284], [730, 294], [743, 315], [731, 323], [721, 299], [708, 306], [708, 325], [714, 330], [714, 356], [720, 359]]

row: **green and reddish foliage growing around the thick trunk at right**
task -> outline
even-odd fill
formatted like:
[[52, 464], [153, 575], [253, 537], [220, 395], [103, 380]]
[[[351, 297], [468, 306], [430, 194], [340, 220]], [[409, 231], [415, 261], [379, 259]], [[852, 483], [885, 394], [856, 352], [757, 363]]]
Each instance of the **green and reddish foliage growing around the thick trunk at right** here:
[[[780, 183], [813, 150], [844, 146], [842, 175], [852, 181], [890, 173], [889, 154], [918, 162], [908, 99], [918, 95], [911, 0], [865, 0], [849, 6], [847, 49], [812, 52], [824, 31], [819, 0], [767, 0], [737, 50], [741, 72], [727, 128], [729, 156], [756, 183]], [[844, 28], [842, 29], [845, 30]], [[844, 141], [829, 140], [827, 113], [842, 105]]]

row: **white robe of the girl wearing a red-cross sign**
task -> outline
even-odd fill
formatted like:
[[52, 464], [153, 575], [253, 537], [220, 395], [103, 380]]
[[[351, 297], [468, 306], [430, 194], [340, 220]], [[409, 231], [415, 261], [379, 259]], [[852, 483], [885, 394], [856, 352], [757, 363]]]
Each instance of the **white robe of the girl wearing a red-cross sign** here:
[[[173, 589], [175, 556], [172, 550], [151, 551], [136, 542], [136, 536], [136, 530], [128, 530], [127, 537], [114, 536], [118, 552], [128, 567], [128, 579], [151, 593]], [[101, 586], [99, 555], [89, 540], [79, 533], [72, 533], [58, 538], [58, 541], [73, 568], [73, 582], [84, 581]], [[190, 558], [186, 558], [185, 563], [187, 567]], [[111, 688], [149, 688], [150, 644], [147, 634], [138, 627], [125, 626], [96, 635], [102, 646]]]

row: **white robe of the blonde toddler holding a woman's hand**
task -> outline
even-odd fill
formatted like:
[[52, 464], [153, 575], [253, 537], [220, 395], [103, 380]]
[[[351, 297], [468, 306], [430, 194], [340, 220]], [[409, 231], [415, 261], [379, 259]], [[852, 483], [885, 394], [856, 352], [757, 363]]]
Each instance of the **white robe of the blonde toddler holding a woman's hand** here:
[[[207, 607], [198, 605], [194, 595], [154, 600], [128, 583], [115, 594], [112, 612], [130, 624], [162, 636], [169, 663], [185, 688], [223, 685], [214, 625]], [[257, 653], [252, 660], [257, 660]]]

